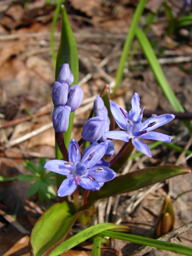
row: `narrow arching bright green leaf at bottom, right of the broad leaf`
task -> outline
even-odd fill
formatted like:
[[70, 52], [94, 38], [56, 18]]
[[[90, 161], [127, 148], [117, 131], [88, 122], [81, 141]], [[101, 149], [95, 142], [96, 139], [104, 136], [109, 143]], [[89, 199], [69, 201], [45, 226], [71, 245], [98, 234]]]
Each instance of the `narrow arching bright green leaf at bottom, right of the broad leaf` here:
[[102, 232], [104, 230], [109, 230], [109, 229], [116, 230], [116, 229], [120, 229], [120, 228], [127, 230], [126, 226], [116, 225], [116, 224], [112, 224], [112, 223], [102, 223], [102, 224], [96, 224], [94, 226], [90, 226], [90, 227], [78, 232], [77, 234], [75, 234], [74, 236], [69, 238], [68, 240], [60, 243], [60, 245], [54, 249], [54, 251], [50, 254], [50, 256], [58, 256], [61, 253], [66, 252], [67, 250], [70, 250], [74, 246], [80, 244], [81, 242], [87, 240], [88, 238], [90, 238], [92, 236], [99, 234], [100, 232]]

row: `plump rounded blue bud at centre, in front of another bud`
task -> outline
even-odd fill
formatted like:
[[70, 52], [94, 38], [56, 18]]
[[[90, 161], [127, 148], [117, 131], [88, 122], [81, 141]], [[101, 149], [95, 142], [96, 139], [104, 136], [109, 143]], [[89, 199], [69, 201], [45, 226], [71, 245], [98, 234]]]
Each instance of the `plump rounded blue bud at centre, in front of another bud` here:
[[98, 141], [106, 129], [106, 118], [95, 116], [90, 118], [83, 127], [82, 138], [89, 142]]

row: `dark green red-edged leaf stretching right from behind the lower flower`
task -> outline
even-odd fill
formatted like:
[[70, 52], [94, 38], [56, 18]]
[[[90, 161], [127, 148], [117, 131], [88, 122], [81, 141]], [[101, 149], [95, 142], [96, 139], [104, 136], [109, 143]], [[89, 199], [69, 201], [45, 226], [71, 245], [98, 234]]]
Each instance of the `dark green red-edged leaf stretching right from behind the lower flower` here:
[[173, 165], [148, 167], [135, 172], [130, 172], [106, 182], [98, 191], [91, 191], [88, 196], [88, 202], [144, 188], [176, 175], [187, 174], [190, 172], [191, 170], [189, 168]]

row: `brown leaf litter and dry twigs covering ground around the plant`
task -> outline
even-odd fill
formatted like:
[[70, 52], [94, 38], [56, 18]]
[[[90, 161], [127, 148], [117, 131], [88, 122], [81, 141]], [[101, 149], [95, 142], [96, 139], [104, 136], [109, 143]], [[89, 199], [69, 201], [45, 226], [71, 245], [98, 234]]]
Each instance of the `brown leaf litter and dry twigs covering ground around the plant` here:
[[[72, 138], [79, 140], [93, 100], [105, 84], [112, 88], [126, 33], [136, 2], [132, 0], [68, 0], [65, 3], [74, 31], [79, 54], [79, 83], [84, 100], [74, 119]], [[192, 34], [188, 27], [168, 36], [168, 21], [162, 0], [149, 0], [140, 20], [145, 26], [150, 13], [157, 13], [150, 26], [148, 38], [162, 65], [164, 74], [176, 97], [189, 114], [192, 109]], [[166, 1], [175, 17], [188, 14], [182, 1]], [[23, 165], [26, 159], [38, 164], [39, 159], [54, 159], [54, 129], [52, 128], [52, 85], [55, 81], [50, 50], [50, 28], [55, 6], [45, 0], [2, 0], [0, 2], [0, 176], [28, 174]], [[58, 49], [61, 31], [59, 18], [55, 31]], [[134, 40], [136, 54], [126, 62], [124, 78], [114, 101], [130, 110], [134, 92], [146, 113], [172, 113], [154, 74], [145, 60], [142, 49]], [[30, 113], [30, 115], [29, 115]], [[145, 112], [144, 112], [145, 114]], [[146, 117], [146, 116], [145, 116]], [[183, 117], [182, 117], [183, 118]], [[130, 160], [127, 170], [147, 166], [177, 164], [192, 167], [187, 150], [192, 150], [192, 136], [180, 116], [158, 131], [175, 136], [172, 143], [182, 147], [182, 153], [160, 145], [152, 150], [152, 158], [144, 155]], [[33, 132], [33, 133], [32, 133]], [[147, 142], [151, 143], [151, 142]], [[122, 143], [116, 144], [116, 152]], [[134, 151], [135, 153], [136, 151]], [[177, 176], [171, 182], [161, 182], [112, 198], [112, 219], [130, 227], [132, 234], [154, 236], [154, 227], [164, 198], [172, 195], [176, 216], [174, 230], [192, 221], [192, 176]], [[28, 256], [30, 232], [49, 204], [41, 204], [37, 196], [27, 197], [30, 182], [13, 180], [0, 182], [0, 255]], [[187, 193], [185, 193], [187, 192]], [[180, 195], [180, 196], [179, 196]], [[57, 200], [52, 200], [51, 203]], [[106, 220], [108, 199], [98, 204], [98, 222]], [[171, 233], [169, 241], [192, 246], [192, 230], [184, 226], [178, 236]], [[140, 245], [112, 240], [102, 255], [174, 255], [174, 253], [144, 248]], [[139, 249], [140, 248], [140, 249]], [[63, 255], [91, 255], [90, 246], [82, 245]], [[177, 254], [178, 255], [178, 254]]]

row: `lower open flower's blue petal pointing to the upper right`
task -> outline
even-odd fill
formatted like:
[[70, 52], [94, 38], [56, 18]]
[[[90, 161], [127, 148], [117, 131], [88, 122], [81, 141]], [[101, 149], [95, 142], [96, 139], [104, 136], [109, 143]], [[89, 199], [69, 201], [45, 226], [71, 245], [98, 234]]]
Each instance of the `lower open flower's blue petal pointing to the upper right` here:
[[81, 162], [84, 163], [87, 168], [93, 167], [104, 156], [107, 150], [107, 143], [101, 142], [96, 146], [92, 146], [82, 157]]

